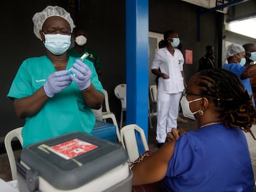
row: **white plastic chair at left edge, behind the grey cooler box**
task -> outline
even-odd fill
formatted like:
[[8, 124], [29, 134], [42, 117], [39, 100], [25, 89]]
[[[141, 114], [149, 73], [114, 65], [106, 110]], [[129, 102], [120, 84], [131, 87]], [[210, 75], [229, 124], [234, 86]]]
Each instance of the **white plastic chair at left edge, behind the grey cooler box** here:
[[12, 150], [12, 140], [16, 137], [20, 141], [21, 146], [23, 146], [22, 139], [22, 128], [15, 128], [14, 130], [9, 131], [4, 138], [4, 145], [6, 146], [7, 156], [10, 162], [12, 180], [17, 180], [17, 169], [15, 164], [14, 151]]

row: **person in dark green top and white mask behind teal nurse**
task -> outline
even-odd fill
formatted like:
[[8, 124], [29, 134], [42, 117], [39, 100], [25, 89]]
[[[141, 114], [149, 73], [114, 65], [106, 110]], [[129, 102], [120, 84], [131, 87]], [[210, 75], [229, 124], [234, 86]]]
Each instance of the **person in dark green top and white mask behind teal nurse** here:
[[[89, 56], [87, 59], [91, 61], [95, 67], [98, 78], [101, 76], [102, 65], [99, 61], [98, 54], [92, 49], [85, 47], [87, 43], [87, 31], [83, 28], [75, 29], [74, 33], [75, 46], [67, 51], [67, 54], [72, 57], [81, 57], [85, 52], [88, 52]], [[98, 110], [92, 109], [95, 119], [102, 120], [102, 107]]]

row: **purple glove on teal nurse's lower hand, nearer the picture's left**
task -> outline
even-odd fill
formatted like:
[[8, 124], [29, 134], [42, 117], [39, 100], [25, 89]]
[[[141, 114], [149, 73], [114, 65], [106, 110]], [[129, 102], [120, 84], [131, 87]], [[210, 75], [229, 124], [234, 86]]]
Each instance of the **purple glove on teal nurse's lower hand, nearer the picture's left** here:
[[60, 70], [49, 75], [43, 88], [45, 88], [46, 95], [52, 98], [55, 93], [61, 92], [61, 90], [69, 86], [71, 82], [72, 80], [67, 74], [67, 70]]

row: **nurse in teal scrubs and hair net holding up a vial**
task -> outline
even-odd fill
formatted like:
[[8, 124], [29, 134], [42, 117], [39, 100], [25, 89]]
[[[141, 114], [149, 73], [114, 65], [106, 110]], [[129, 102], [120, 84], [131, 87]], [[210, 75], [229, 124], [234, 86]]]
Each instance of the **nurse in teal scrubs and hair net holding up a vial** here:
[[67, 56], [75, 27], [70, 14], [48, 6], [33, 16], [33, 23], [46, 55], [23, 61], [7, 95], [17, 116], [26, 119], [23, 148], [71, 131], [91, 134], [92, 109], [100, 109], [104, 99], [92, 62]]

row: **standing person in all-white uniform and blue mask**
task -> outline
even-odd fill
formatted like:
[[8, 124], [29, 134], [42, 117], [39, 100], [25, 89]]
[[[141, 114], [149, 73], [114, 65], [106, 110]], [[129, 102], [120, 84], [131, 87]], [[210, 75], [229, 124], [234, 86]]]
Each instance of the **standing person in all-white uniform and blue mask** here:
[[166, 47], [159, 49], [154, 57], [151, 72], [158, 79], [156, 140], [158, 148], [163, 146], [172, 128], [177, 128], [179, 101], [186, 81], [183, 73], [184, 57], [177, 49], [180, 40], [176, 31], [164, 33]]

